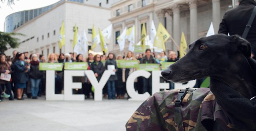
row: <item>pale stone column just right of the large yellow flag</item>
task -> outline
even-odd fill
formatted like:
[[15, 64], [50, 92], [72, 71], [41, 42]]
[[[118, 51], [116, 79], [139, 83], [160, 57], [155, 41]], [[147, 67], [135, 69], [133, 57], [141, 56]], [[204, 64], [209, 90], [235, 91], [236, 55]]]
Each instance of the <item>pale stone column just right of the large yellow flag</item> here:
[[179, 45], [180, 44], [180, 5], [175, 4], [173, 9], [173, 39]]

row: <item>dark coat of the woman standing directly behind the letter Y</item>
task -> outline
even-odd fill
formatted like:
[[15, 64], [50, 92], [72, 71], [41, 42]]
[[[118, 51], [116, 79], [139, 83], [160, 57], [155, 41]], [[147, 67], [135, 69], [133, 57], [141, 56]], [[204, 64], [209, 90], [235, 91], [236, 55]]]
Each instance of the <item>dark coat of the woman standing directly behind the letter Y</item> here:
[[90, 70], [92, 70], [94, 73], [98, 74], [98, 77], [96, 77], [96, 79], [99, 82], [100, 78], [102, 77], [102, 74], [104, 72], [103, 63], [101, 61], [99, 61], [98, 63], [93, 61], [90, 66]]

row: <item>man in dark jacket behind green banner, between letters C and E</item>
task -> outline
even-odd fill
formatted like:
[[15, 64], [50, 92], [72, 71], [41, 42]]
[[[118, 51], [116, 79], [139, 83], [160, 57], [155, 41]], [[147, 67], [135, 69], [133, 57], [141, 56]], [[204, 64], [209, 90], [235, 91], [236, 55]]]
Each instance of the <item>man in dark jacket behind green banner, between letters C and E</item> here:
[[[140, 64], [156, 64], [156, 60], [151, 55], [151, 50], [146, 49], [145, 53], [146, 55], [142, 58], [142, 60], [140, 60]], [[152, 77], [150, 76], [148, 79], [142, 77], [142, 82], [142, 93], [149, 92], [149, 94], [152, 95]]]

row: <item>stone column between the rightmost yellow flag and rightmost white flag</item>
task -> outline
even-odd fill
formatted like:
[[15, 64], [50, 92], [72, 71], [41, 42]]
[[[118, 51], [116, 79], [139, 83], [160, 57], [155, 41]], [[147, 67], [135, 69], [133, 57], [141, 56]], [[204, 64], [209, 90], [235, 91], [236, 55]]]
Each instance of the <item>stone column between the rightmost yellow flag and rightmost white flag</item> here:
[[190, 43], [198, 39], [197, 32], [197, 0], [187, 2], [190, 9]]

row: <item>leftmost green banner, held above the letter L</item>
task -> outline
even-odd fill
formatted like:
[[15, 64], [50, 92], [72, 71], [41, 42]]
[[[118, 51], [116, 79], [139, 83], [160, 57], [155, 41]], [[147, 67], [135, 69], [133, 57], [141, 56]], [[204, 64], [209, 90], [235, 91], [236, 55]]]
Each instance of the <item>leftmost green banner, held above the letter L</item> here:
[[62, 63], [39, 63], [39, 70], [40, 71], [62, 71]]

